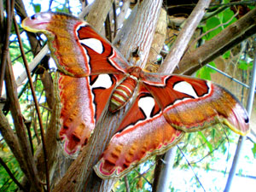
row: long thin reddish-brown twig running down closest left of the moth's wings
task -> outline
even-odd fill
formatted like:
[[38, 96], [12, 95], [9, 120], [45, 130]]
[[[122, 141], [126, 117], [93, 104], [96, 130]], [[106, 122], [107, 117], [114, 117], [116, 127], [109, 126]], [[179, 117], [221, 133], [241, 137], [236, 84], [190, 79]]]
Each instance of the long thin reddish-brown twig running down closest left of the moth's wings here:
[[17, 22], [15, 20], [15, 17], [14, 17], [14, 23], [15, 23], [15, 32], [16, 32], [18, 40], [19, 40], [20, 52], [21, 52], [21, 55], [22, 55], [22, 59], [23, 59], [24, 65], [26, 67], [27, 77], [29, 79], [29, 84], [30, 84], [30, 87], [31, 87], [33, 100], [34, 100], [35, 105], [36, 105], [36, 111], [38, 113], [38, 121], [39, 121], [41, 137], [42, 137], [42, 144], [43, 144], [43, 150], [44, 150], [44, 166], [45, 166], [45, 174], [46, 174], [46, 185], [47, 185], [47, 191], [49, 192], [49, 170], [48, 170], [48, 158], [47, 158], [45, 139], [44, 139], [43, 120], [41, 118], [40, 109], [39, 109], [39, 106], [38, 106], [37, 96], [36, 96], [36, 93], [35, 93], [34, 86], [32, 84], [32, 77], [31, 77], [31, 74], [30, 74], [30, 71], [29, 71], [29, 68], [28, 68], [25, 52], [24, 52], [24, 49], [23, 49], [23, 46], [22, 46], [22, 42], [21, 42], [21, 38], [20, 38], [20, 32], [19, 32], [19, 26], [18, 26], [18, 24], [17, 24]]

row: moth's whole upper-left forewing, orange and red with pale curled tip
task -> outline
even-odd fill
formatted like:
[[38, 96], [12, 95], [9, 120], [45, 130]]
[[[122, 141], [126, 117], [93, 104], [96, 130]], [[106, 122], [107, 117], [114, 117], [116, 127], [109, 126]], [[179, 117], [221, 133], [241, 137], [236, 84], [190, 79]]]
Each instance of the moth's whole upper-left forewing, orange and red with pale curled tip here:
[[125, 73], [129, 64], [87, 22], [60, 13], [44, 12], [27, 17], [22, 26], [42, 32], [58, 69], [73, 77], [101, 73]]

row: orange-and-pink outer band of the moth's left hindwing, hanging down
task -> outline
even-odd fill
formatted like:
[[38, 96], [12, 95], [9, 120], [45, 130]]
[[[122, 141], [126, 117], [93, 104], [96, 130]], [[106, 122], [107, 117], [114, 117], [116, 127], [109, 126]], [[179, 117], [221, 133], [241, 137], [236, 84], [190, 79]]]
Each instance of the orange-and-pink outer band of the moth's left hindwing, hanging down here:
[[95, 127], [95, 107], [88, 78], [60, 74], [60, 138], [67, 154], [75, 154], [88, 142]]

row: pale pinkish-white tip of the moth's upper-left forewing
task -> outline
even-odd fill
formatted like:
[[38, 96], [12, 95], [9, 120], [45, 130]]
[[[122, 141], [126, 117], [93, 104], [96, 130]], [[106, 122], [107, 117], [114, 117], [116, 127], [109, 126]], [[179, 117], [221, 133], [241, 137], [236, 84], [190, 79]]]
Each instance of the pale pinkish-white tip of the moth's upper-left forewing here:
[[21, 26], [28, 32], [48, 33], [47, 27], [51, 22], [53, 14], [50, 12], [38, 13], [31, 17], [26, 17]]

